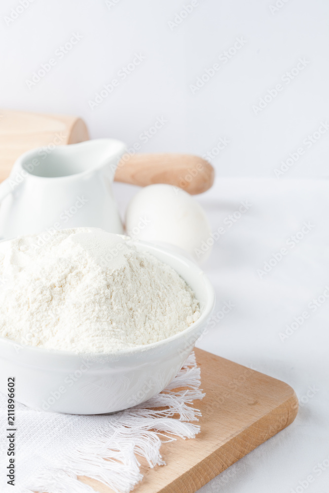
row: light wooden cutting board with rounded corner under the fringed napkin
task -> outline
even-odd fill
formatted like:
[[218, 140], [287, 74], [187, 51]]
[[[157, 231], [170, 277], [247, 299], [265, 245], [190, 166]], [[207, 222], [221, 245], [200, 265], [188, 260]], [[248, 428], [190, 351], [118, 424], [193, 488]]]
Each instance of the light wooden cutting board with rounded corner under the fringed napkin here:
[[[143, 467], [134, 493], [194, 493], [296, 417], [298, 400], [288, 384], [209, 352], [195, 354], [206, 392], [194, 402], [202, 412], [201, 432], [164, 443], [167, 465]], [[80, 480], [96, 492], [112, 493], [97, 481]]]

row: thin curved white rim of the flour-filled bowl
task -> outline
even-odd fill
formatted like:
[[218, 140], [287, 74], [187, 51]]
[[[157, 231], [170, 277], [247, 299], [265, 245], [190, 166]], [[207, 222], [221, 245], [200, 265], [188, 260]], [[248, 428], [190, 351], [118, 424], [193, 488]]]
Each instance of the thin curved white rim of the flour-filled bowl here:
[[[85, 226], [89, 227], [89, 226]], [[99, 228], [97, 228], [99, 229]], [[117, 233], [113, 233], [117, 234]], [[28, 235], [25, 235], [28, 236]], [[125, 236], [125, 235], [120, 235], [118, 236]], [[129, 237], [126, 236], [128, 239]], [[5, 242], [5, 241], [10, 241], [13, 238], [10, 239], [3, 239], [0, 240], [0, 243]], [[182, 264], [185, 264], [186, 267], [191, 268], [194, 272], [195, 275], [199, 275], [200, 278], [202, 278], [203, 282], [205, 283], [205, 288], [206, 288], [206, 302], [203, 306], [202, 312], [200, 317], [193, 322], [189, 327], [186, 327], [183, 329], [181, 332], [177, 332], [176, 334], [167, 337], [166, 339], [161, 339], [161, 341], [156, 341], [153, 343], [145, 344], [145, 345], [139, 345], [139, 346], [134, 346], [132, 348], [127, 348], [127, 349], [121, 349], [115, 352], [73, 352], [73, 351], [65, 351], [65, 350], [57, 350], [57, 349], [51, 349], [51, 348], [42, 348], [39, 346], [30, 346], [28, 344], [21, 344], [17, 341], [14, 341], [13, 339], [9, 339], [7, 337], [2, 337], [0, 336], [0, 344], [5, 343], [9, 346], [20, 346], [22, 349], [24, 348], [25, 350], [28, 350], [29, 352], [36, 352], [37, 354], [51, 354], [52, 356], [58, 355], [61, 357], [91, 357], [93, 359], [100, 357], [100, 358], [106, 358], [106, 357], [115, 357], [115, 356], [130, 356], [133, 354], [138, 354], [138, 353], [144, 353], [147, 351], [151, 351], [153, 349], [158, 349], [161, 347], [164, 347], [171, 342], [177, 341], [180, 338], [184, 338], [187, 336], [190, 332], [194, 332], [194, 330], [200, 326], [203, 325], [205, 319], [209, 317], [209, 315], [212, 313], [214, 307], [215, 307], [215, 302], [216, 302], [216, 295], [215, 295], [215, 290], [211, 282], [209, 281], [208, 277], [206, 274], [200, 269], [200, 267], [194, 263], [193, 260], [190, 260], [189, 258], [185, 257], [183, 254], [176, 253], [164, 246], [159, 246], [156, 243], [149, 243], [141, 240], [129, 240], [129, 243], [133, 244], [134, 246], [139, 246], [139, 247], [145, 247], [147, 251], [153, 250], [153, 251], [159, 251], [161, 253], [164, 253], [165, 255], [175, 258], [176, 260], [179, 260]], [[151, 253], [151, 252], [150, 252]], [[156, 256], [156, 255], [155, 255]], [[162, 260], [161, 260], [162, 261]], [[166, 262], [164, 262], [166, 263]], [[174, 269], [174, 268], [173, 268]], [[176, 269], [174, 269], [176, 271]], [[176, 271], [177, 272], [177, 271]], [[178, 273], [179, 274], [179, 273]], [[181, 274], [179, 274], [181, 276]], [[181, 276], [183, 277], [183, 276]], [[184, 278], [183, 278], [184, 279]], [[184, 280], [185, 281], [185, 280]], [[185, 281], [186, 282], [186, 281]], [[191, 289], [193, 290], [192, 286], [190, 286]], [[194, 290], [193, 290], [194, 292]], [[195, 339], [195, 342], [197, 339], [201, 336], [200, 335]]]

